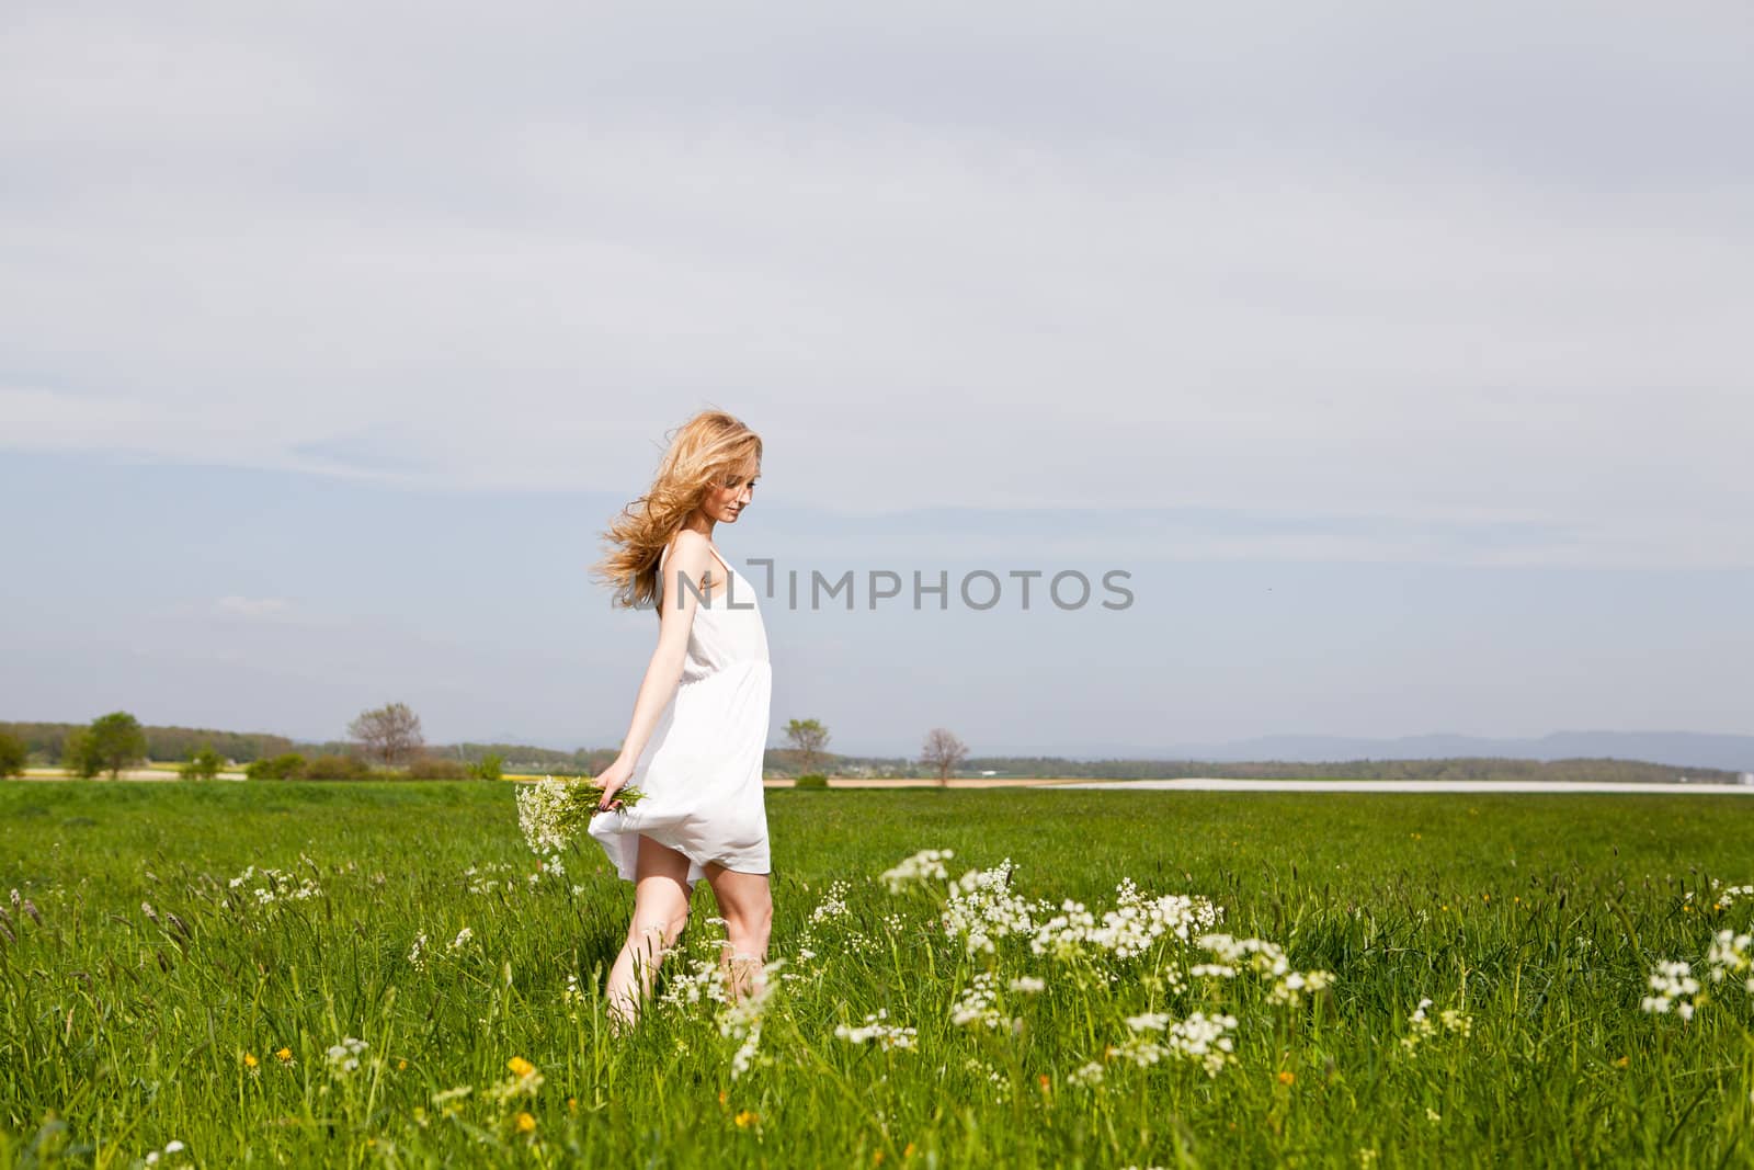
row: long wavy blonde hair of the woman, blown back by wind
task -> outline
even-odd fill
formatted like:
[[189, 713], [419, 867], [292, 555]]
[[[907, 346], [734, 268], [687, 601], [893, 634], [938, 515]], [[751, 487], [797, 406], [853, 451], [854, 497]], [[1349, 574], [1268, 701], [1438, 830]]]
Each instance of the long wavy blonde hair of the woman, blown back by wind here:
[[610, 542], [610, 553], [591, 572], [614, 589], [614, 605], [623, 609], [658, 603], [658, 560], [707, 489], [724, 486], [751, 463], [761, 465], [761, 437], [724, 410], [702, 410], [670, 432], [668, 444], [651, 489], [598, 533]]

